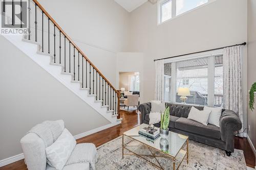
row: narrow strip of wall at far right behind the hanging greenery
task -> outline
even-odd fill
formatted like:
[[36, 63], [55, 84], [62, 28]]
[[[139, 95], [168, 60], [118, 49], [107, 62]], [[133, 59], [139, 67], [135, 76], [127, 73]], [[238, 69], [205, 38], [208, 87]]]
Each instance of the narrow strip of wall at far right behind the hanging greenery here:
[[[248, 90], [256, 82], [255, 63], [256, 63], [256, 1], [248, 1]], [[256, 100], [256, 94], [255, 100]], [[254, 148], [256, 148], [256, 105], [254, 110], [248, 108], [248, 136]]]

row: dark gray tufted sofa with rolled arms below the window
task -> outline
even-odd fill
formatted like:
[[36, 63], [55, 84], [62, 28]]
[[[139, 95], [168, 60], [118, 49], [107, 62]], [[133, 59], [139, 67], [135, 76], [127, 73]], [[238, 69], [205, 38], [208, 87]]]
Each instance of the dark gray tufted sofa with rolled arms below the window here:
[[[170, 108], [169, 130], [187, 135], [189, 139], [202, 142], [212, 147], [220, 148], [226, 151], [230, 156], [234, 151], [234, 132], [242, 128], [239, 116], [231, 110], [222, 110], [220, 118], [220, 128], [208, 124], [207, 126], [200, 124], [194, 120], [187, 119], [188, 113], [193, 105], [184, 105], [176, 103], [166, 103]], [[199, 110], [203, 110], [202, 106], [194, 106]], [[143, 103], [139, 105], [141, 112], [141, 123], [148, 124], [151, 111], [151, 103]], [[160, 123], [155, 124], [160, 127]]]

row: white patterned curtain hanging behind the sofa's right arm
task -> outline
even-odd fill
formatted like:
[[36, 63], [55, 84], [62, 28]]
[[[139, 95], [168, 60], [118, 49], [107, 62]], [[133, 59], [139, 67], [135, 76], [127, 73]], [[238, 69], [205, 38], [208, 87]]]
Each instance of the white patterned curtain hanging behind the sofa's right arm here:
[[[224, 48], [224, 109], [233, 110], [243, 124], [242, 101], [242, 46]], [[239, 136], [243, 137], [243, 128]]]

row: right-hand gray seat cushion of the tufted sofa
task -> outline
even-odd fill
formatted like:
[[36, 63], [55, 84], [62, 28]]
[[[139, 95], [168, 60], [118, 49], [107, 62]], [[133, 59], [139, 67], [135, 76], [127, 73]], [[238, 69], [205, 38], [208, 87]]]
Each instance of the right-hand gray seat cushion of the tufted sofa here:
[[207, 126], [200, 124], [194, 120], [190, 120], [184, 117], [180, 117], [175, 122], [175, 128], [183, 131], [196, 133], [203, 136], [208, 136], [216, 139], [220, 139], [220, 128], [215, 125], [208, 124]]

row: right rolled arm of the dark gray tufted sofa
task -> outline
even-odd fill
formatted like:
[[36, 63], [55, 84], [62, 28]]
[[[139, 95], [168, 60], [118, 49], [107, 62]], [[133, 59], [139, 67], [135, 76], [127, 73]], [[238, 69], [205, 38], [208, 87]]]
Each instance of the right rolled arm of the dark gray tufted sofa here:
[[226, 142], [226, 151], [234, 151], [234, 132], [242, 128], [242, 122], [232, 110], [223, 111], [220, 118], [221, 140]]

